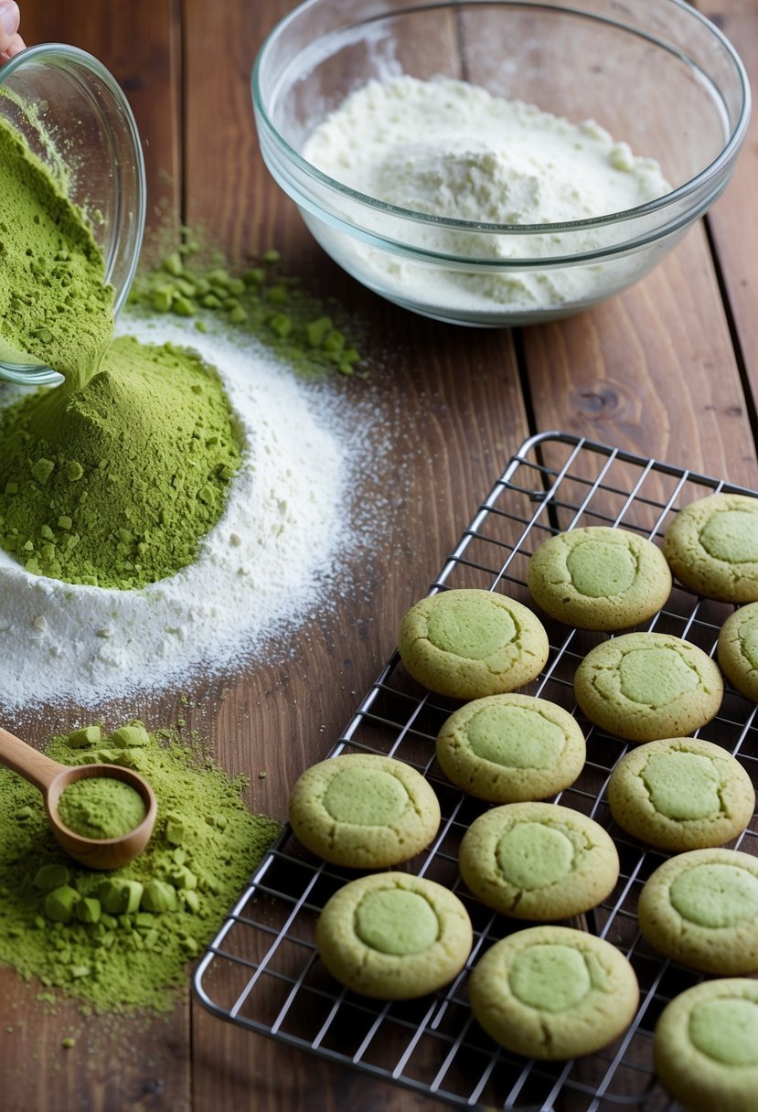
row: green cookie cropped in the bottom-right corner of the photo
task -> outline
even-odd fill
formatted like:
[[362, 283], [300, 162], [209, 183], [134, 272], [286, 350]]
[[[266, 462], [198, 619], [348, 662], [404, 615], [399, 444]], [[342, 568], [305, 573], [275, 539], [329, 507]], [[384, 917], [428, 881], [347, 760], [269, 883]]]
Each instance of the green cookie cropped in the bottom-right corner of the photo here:
[[691, 1112], [758, 1112], [758, 982], [704, 981], [666, 1005], [652, 1058]]

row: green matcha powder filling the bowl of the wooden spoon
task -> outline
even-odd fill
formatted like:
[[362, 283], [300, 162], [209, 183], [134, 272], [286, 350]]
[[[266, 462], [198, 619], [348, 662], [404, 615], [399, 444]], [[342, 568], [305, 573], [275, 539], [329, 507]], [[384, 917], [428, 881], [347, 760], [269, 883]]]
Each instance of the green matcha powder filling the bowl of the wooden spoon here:
[[74, 781], [58, 801], [60, 818], [82, 837], [120, 837], [136, 830], [147, 813], [139, 792], [112, 776]]

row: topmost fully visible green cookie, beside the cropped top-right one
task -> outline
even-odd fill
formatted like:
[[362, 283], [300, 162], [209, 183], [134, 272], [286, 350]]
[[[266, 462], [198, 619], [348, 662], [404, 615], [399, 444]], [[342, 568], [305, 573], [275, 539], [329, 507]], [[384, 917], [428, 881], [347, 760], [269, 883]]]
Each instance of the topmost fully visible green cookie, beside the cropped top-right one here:
[[660, 548], [628, 529], [589, 526], [543, 540], [527, 584], [551, 617], [579, 629], [628, 629], [651, 618], [671, 593]]

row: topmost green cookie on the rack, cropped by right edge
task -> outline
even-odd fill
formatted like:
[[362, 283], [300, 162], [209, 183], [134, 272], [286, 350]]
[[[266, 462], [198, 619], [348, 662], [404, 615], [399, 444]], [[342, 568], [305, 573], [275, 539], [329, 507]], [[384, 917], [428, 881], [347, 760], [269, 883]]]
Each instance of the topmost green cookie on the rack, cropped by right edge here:
[[698, 595], [758, 600], [758, 498], [711, 494], [691, 502], [666, 530], [664, 556]]

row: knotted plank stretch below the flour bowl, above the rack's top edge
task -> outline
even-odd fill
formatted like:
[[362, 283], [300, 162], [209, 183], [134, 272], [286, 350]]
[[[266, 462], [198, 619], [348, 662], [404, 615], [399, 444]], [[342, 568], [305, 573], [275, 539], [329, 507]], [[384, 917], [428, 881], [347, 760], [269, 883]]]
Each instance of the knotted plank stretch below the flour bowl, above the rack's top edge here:
[[735, 354], [702, 228], [590, 312], [526, 329], [541, 428], [758, 484]]

